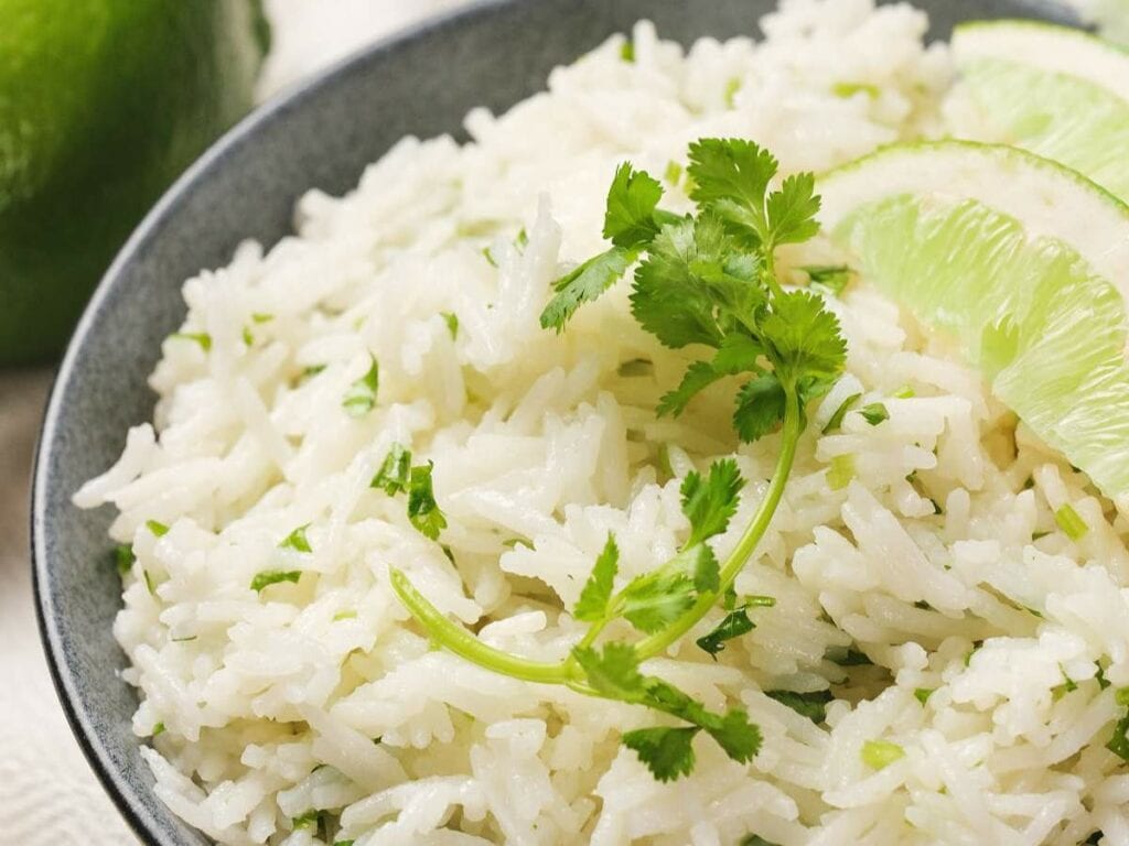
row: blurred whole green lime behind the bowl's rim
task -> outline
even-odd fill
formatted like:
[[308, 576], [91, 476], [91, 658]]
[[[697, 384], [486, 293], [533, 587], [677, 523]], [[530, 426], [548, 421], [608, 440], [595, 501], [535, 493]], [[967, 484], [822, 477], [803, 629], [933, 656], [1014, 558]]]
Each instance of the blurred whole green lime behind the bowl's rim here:
[[0, 0], [0, 364], [59, 351], [269, 42], [261, 0]]

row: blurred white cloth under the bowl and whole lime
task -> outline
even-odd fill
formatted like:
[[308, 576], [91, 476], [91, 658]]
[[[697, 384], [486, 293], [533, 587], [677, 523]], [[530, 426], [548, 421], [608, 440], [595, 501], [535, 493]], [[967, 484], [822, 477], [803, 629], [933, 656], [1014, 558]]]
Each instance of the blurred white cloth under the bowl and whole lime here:
[[[266, 97], [373, 38], [466, 0], [268, 0]], [[51, 381], [0, 372], [0, 846], [131, 846], [47, 676], [27, 561], [27, 481]]]

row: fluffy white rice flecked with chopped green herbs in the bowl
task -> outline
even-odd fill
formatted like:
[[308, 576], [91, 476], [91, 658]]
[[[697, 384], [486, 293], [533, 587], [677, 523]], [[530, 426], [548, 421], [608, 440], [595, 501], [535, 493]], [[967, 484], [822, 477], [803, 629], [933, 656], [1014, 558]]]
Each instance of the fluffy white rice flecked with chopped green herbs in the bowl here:
[[[688, 530], [680, 477], [727, 455], [750, 485], [717, 548], [736, 541], [779, 439], [738, 448], [726, 386], [656, 418], [692, 353], [637, 326], [628, 285], [562, 336], [537, 317], [602, 249], [623, 160], [679, 182], [688, 142], [737, 135], [822, 170], [943, 132], [951, 71], [920, 12], [794, 0], [763, 26], [683, 53], [639, 24], [633, 62], [611, 38], [505, 116], [472, 113], [472, 143], [405, 139], [353, 193], [306, 195], [296, 237], [184, 285], [182, 333], [210, 349], [165, 342], [154, 424], [75, 500], [113, 503], [133, 545], [114, 629], [133, 730], [156, 734], [142, 754], [189, 823], [234, 846], [1129, 844], [1129, 774], [1104, 748], [1129, 685], [1129, 527], [865, 284], [831, 303], [848, 372], [737, 581], [776, 606], [716, 662], [693, 638], [720, 609], [648, 664], [743, 703], [764, 734], [751, 765], [700, 740], [693, 775], [659, 784], [619, 746], [654, 713], [432, 650], [388, 587], [400, 567], [485, 642], [558, 660], [607, 532], [621, 579], [658, 566]], [[355, 418], [342, 397], [371, 356], [379, 402]], [[821, 434], [854, 394], [889, 421]], [[393, 442], [435, 462], [449, 559], [369, 487]], [[307, 523], [312, 552], [279, 548]], [[270, 570], [303, 575], [248, 588]], [[825, 726], [764, 693], [829, 687]], [[872, 769], [876, 740], [904, 757]]]

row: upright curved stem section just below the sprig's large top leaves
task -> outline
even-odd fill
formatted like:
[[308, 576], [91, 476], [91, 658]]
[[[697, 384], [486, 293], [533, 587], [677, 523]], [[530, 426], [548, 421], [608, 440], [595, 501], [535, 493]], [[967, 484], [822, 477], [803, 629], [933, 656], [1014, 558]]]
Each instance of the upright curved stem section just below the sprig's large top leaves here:
[[784, 488], [788, 482], [788, 476], [791, 474], [791, 465], [796, 459], [796, 446], [799, 443], [802, 431], [803, 423], [796, 388], [786, 385], [784, 429], [781, 431], [781, 447], [780, 455], [777, 458], [776, 470], [772, 474], [772, 481], [769, 483], [769, 490], [764, 494], [764, 499], [761, 500], [761, 504], [756, 508], [756, 513], [749, 523], [749, 528], [745, 529], [744, 535], [741, 536], [741, 540], [737, 541], [737, 546], [729, 553], [729, 557], [726, 558], [725, 565], [721, 567], [718, 590], [716, 592], [699, 594], [698, 600], [690, 609], [668, 627], [640, 641], [636, 646], [636, 652], [639, 654], [640, 661], [646, 661], [648, 658], [663, 652], [663, 650], [698, 625], [702, 617], [717, 605], [718, 597], [733, 585], [737, 574], [744, 569], [750, 556], [756, 549], [756, 545], [764, 537], [769, 523], [772, 522], [772, 517], [776, 514], [777, 506], [784, 496]]

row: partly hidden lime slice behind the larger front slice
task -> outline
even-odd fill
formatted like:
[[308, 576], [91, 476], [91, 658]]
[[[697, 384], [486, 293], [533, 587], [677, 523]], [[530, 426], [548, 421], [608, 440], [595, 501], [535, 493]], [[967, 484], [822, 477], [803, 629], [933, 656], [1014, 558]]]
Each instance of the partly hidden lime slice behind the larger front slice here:
[[1061, 161], [1129, 199], [1129, 52], [1068, 27], [1024, 20], [977, 23], [953, 33], [981, 138]]

